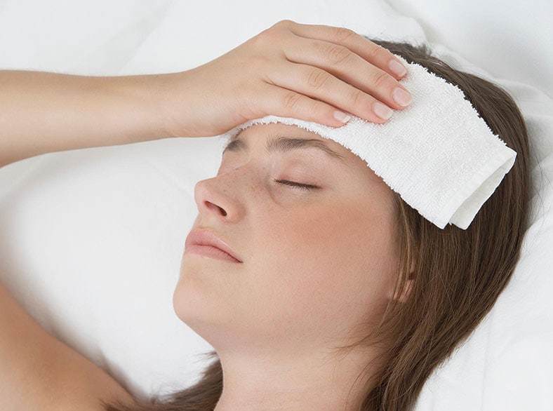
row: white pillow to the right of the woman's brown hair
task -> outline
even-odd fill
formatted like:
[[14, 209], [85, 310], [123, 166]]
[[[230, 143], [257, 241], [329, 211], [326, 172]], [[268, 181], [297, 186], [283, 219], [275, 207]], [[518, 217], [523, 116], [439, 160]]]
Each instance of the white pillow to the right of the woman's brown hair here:
[[553, 409], [553, 100], [531, 86], [494, 79], [444, 46], [437, 56], [509, 91], [530, 135], [531, 225], [512, 281], [490, 314], [434, 372], [418, 401], [422, 410]]

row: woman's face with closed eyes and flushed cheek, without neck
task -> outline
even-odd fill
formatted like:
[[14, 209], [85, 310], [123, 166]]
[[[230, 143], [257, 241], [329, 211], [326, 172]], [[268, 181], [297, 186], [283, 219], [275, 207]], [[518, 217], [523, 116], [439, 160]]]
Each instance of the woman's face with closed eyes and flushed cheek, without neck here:
[[345, 147], [295, 126], [251, 126], [237, 140], [217, 176], [196, 184], [193, 228], [242, 262], [185, 251], [178, 316], [217, 351], [333, 346], [378, 321], [397, 274], [389, 187]]

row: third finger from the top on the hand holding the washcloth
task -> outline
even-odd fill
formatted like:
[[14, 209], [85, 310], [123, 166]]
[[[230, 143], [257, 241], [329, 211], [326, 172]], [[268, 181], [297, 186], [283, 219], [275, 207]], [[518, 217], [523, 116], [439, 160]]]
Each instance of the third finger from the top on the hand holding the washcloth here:
[[[279, 68], [268, 74], [267, 79], [274, 86], [311, 97], [308, 100], [316, 99], [331, 103], [342, 112], [354, 114], [373, 123], [384, 123], [392, 116], [392, 110], [372, 95], [317, 67], [288, 63], [286, 68]], [[307, 104], [307, 100], [303, 100], [303, 104]], [[311, 110], [317, 108], [323, 110], [321, 105], [310, 107]], [[328, 113], [324, 114], [321, 111], [321, 115], [328, 116]]]

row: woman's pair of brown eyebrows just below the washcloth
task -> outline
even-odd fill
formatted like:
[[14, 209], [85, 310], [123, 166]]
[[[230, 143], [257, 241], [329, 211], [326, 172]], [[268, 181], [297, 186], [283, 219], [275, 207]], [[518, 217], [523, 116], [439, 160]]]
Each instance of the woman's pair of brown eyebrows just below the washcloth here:
[[[314, 138], [295, 138], [295, 137], [271, 137], [267, 140], [265, 144], [265, 151], [267, 154], [272, 154], [276, 152], [286, 153], [287, 151], [295, 149], [306, 149], [306, 148], [316, 148], [324, 151], [332, 159], [337, 159], [338, 161], [347, 165], [344, 157], [338, 154], [336, 151], [328, 147], [321, 140]], [[246, 151], [248, 149], [248, 143], [244, 140], [240, 140], [238, 135], [232, 138], [227, 147], [222, 151], [222, 154], [225, 154], [225, 151]]]

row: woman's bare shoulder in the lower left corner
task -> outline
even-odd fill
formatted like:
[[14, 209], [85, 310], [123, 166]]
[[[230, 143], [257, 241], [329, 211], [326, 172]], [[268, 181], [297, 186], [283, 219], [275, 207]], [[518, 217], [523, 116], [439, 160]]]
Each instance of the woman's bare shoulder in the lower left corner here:
[[0, 284], [0, 410], [100, 411], [133, 403], [112, 377], [48, 335]]

